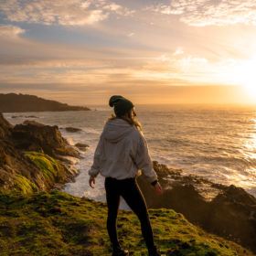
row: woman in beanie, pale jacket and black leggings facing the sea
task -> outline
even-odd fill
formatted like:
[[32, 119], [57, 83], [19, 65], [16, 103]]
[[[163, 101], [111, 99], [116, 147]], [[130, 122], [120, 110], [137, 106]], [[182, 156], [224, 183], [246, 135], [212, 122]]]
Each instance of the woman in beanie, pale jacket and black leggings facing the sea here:
[[112, 242], [112, 256], [129, 255], [119, 244], [116, 219], [120, 196], [132, 208], [141, 222], [142, 234], [150, 256], [157, 252], [144, 197], [137, 186], [138, 170], [162, 194], [162, 187], [157, 181], [152, 160], [141, 124], [135, 120], [133, 102], [123, 96], [113, 95], [109, 105], [114, 108], [115, 116], [105, 123], [100, 141], [96, 147], [93, 164], [89, 170], [89, 184], [95, 184], [95, 177], [101, 173], [105, 176], [106, 199], [108, 205], [107, 229]]

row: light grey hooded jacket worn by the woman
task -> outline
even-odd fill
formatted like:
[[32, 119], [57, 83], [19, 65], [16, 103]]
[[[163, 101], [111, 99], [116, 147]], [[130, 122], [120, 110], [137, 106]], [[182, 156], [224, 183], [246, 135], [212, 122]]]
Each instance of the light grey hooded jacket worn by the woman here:
[[139, 170], [150, 183], [157, 179], [144, 134], [123, 119], [108, 121], [97, 144], [89, 175], [101, 173], [101, 176], [124, 179], [139, 175]]

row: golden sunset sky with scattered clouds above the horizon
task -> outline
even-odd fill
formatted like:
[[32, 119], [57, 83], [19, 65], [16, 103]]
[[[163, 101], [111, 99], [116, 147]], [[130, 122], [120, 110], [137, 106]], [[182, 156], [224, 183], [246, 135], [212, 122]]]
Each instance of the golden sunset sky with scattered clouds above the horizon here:
[[255, 42], [251, 0], [0, 0], [0, 93], [255, 103]]

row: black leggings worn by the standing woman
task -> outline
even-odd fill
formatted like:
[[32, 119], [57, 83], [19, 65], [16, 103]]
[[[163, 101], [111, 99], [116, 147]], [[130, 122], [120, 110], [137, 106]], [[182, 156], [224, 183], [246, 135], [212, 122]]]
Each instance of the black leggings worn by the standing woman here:
[[141, 222], [142, 234], [146, 247], [154, 247], [153, 231], [151, 228], [148, 211], [144, 201], [144, 196], [137, 185], [135, 178], [125, 178], [118, 180], [112, 177], [105, 178], [106, 198], [108, 204], [107, 229], [112, 242], [112, 247], [119, 247], [116, 231], [116, 219], [120, 203], [120, 196], [133, 210]]

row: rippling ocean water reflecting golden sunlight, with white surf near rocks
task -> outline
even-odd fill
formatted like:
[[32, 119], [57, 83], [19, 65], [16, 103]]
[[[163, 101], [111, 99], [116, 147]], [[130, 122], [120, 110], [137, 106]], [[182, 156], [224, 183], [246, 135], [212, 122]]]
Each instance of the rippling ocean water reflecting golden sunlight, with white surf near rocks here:
[[[64, 190], [78, 197], [105, 201], [104, 178], [98, 176], [96, 187], [89, 187], [88, 170], [103, 125], [111, 116], [108, 106], [89, 106], [82, 112], [16, 112], [5, 113], [9, 123], [35, 120], [58, 125], [69, 144], [84, 143], [90, 147], [83, 159], [73, 159], [80, 169], [75, 182]], [[256, 197], [256, 108], [231, 106], [138, 105], [138, 120], [143, 124], [153, 160], [172, 168], [181, 168], [209, 180], [245, 188]], [[18, 116], [12, 118], [12, 116]], [[35, 115], [37, 118], [27, 118]], [[67, 126], [82, 129], [68, 133]]]

